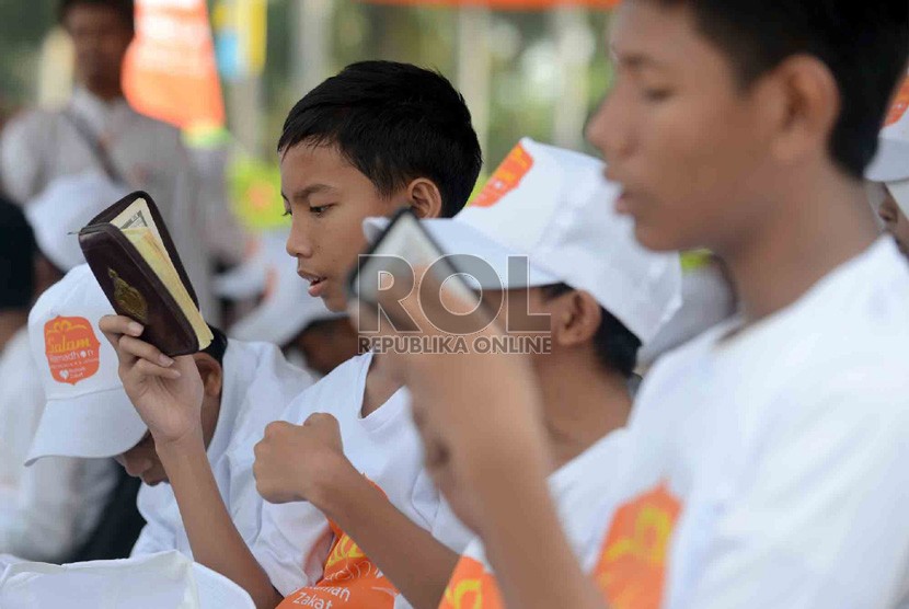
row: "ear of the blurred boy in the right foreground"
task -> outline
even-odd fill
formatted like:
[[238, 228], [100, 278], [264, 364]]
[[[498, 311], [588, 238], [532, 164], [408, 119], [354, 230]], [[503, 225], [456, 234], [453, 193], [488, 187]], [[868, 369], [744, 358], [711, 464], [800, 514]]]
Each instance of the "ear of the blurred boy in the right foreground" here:
[[786, 163], [816, 154], [829, 158], [830, 135], [842, 107], [830, 68], [816, 57], [797, 55], [783, 61], [770, 78], [782, 96], [774, 156]]

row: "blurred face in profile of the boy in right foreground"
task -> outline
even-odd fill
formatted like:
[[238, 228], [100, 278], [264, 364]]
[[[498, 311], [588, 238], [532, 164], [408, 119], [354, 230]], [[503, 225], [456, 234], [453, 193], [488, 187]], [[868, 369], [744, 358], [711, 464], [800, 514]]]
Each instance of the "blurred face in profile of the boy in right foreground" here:
[[686, 5], [629, 0], [610, 37], [615, 82], [587, 128], [653, 250], [720, 249], [767, 198], [779, 103], [745, 90]]

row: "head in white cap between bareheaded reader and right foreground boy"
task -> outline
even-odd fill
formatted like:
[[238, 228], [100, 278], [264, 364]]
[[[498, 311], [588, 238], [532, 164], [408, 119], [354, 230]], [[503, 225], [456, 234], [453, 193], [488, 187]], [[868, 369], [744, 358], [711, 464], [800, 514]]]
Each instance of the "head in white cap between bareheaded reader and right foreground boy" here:
[[[619, 188], [602, 171], [525, 138], [471, 206], [423, 221], [517, 338], [508, 348], [529, 354], [557, 466], [624, 426], [638, 349], [681, 306], [679, 256], [637, 244], [632, 221], [605, 207]], [[375, 238], [387, 223], [369, 219], [366, 231]], [[527, 272], [514, 267], [518, 256]]]

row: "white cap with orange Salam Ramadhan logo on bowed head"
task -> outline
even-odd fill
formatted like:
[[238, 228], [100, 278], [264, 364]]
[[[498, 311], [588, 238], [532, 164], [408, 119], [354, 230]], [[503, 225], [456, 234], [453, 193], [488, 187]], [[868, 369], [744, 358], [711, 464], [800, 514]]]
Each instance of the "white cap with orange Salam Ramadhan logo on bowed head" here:
[[45, 291], [28, 314], [28, 340], [47, 406], [26, 466], [42, 457], [113, 457], [148, 428], [117, 375], [117, 355], [97, 328], [113, 314], [87, 264]]

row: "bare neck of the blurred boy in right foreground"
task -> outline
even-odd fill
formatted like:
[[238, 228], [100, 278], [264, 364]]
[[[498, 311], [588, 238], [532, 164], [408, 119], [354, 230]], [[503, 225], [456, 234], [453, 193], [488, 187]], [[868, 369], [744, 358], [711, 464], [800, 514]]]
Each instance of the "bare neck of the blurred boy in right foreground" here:
[[826, 173], [787, 189], [756, 230], [715, 248], [748, 323], [792, 304], [877, 238], [862, 184], [832, 169]]

